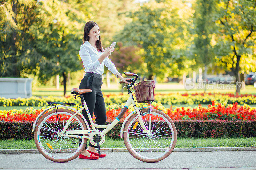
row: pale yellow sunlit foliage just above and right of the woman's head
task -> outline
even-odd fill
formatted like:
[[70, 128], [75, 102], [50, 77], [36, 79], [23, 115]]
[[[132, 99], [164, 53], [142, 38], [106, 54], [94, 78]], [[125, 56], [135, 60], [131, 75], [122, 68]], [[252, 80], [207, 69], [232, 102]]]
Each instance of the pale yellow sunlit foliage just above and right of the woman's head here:
[[[86, 11], [88, 14], [85, 15], [88, 16], [88, 19], [99, 25], [104, 48], [112, 43], [113, 36], [122, 30], [125, 24], [132, 21], [125, 14], [140, 8], [138, 3], [130, 0], [90, 0], [90, 4], [90, 7], [88, 4], [81, 5], [83, 7], [81, 11], [83, 13]], [[86, 8], [84, 8], [85, 6]], [[84, 24], [89, 20], [84, 20]]]

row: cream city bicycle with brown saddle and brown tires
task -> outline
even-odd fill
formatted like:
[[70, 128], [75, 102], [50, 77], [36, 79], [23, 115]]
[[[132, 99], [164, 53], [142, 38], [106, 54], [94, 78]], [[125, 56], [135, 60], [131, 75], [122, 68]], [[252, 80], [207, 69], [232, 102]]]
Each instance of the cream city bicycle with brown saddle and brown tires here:
[[[152, 100], [142, 101], [148, 102], [149, 106], [138, 108], [132, 95], [133, 90], [130, 91], [138, 75], [128, 72], [124, 75], [136, 78], [129, 80], [130, 84], [126, 85], [129, 98], [116, 119], [108, 125], [97, 125], [92, 122], [83, 97], [84, 93], [92, 92], [90, 89], [74, 88], [71, 90], [75, 98], [79, 97], [83, 100], [84, 106], [79, 107], [79, 110], [71, 107], [76, 105], [75, 103], [47, 102], [52, 104], [52, 107], [38, 115], [32, 130], [35, 131], [34, 139], [39, 152], [51, 161], [67, 162], [83, 152], [89, 139], [91, 144], [98, 147], [100, 155], [100, 145], [105, 141], [105, 134], [120, 121], [132, 104], [134, 111], [124, 119], [120, 131], [127, 150], [133, 157], [143, 162], [158, 162], [169, 156], [177, 142], [177, 130], [174, 123], [163, 112], [152, 109]], [[120, 81], [120, 83], [124, 82]], [[92, 130], [81, 114], [84, 109], [88, 114]], [[97, 128], [105, 129], [101, 132]]]

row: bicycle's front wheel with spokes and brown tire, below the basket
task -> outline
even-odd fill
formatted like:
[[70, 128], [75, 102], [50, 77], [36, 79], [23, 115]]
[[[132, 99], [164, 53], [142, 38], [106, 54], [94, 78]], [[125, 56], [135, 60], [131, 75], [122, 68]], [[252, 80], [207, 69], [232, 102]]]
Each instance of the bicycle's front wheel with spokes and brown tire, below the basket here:
[[124, 127], [124, 144], [133, 157], [143, 162], [158, 162], [173, 151], [177, 130], [171, 118], [159, 110], [142, 116], [148, 135], [140, 126], [138, 115], [132, 115]]

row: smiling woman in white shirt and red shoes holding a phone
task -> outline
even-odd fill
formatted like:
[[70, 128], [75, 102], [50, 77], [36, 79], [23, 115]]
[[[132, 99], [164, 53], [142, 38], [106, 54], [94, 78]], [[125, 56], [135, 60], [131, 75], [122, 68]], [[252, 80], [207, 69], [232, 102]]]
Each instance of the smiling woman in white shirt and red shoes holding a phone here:
[[[104, 73], [104, 65], [110, 70], [116, 77], [120, 78], [123, 82], [129, 84], [126, 80], [131, 78], [122, 77], [116, 69], [116, 66], [108, 58], [114, 51], [114, 48], [102, 47], [100, 29], [96, 22], [89, 21], [84, 26], [83, 44], [80, 47], [79, 55], [84, 65], [84, 71], [86, 72], [84, 78], [81, 80], [80, 89], [91, 89], [92, 93], [85, 93], [84, 100], [88, 106], [91, 116], [93, 112], [95, 115], [95, 122], [99, 125], [105, 125], [106, 123], [106, 108], [104, 98], [101, 92], [101, 85], [103, 84], [101, 76]], [[83, 101], [82, 101], [83, 103]], [[83, 115], [90, 125], [89, 118], [83, 110]], [[102, 131], [103, 129], [98, 128]], [[106, 155], [98, 155], [96, 146], [89, 144], [85, 147], [84, 151], [79, 155], [79, 159], [99, 159], [99, 157], [105, 157]]]

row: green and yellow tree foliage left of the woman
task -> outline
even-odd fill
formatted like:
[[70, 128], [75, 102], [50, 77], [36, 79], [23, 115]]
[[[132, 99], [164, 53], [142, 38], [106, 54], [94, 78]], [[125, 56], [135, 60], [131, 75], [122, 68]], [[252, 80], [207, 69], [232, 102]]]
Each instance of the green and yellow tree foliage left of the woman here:
[[64, 79], [65, 95], [66, 74], [82, 68], [78, 51], [86, 17], [74, 7], [80, 7], [76, 1], [2, 3], [0, 76], [33, 74], [44, 82], [60, 74]]

